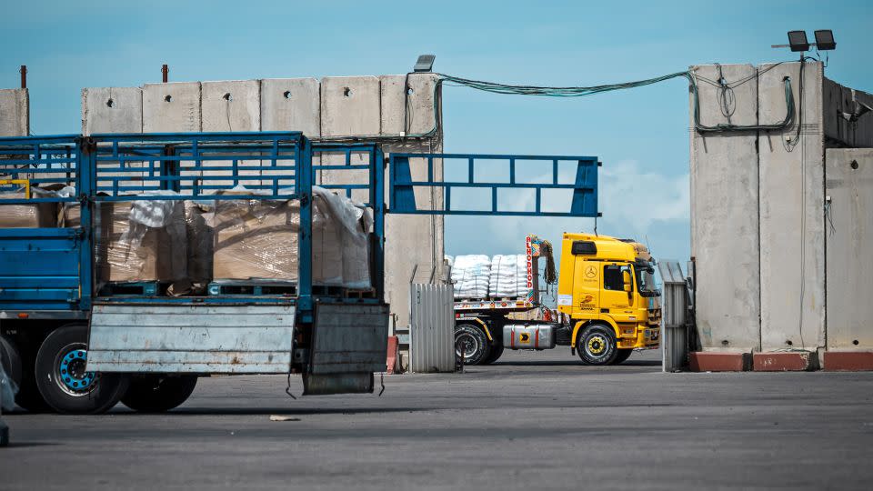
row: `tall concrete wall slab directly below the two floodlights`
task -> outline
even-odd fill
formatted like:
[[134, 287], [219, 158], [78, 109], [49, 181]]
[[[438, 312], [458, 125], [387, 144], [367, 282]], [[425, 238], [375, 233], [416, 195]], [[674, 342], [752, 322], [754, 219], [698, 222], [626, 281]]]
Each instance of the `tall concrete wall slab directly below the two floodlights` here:
[[[800, 111], [800, 64], [761, 65], [759, 120], [786, 115], [783, 79]], [[761, 349], [825, 346], [825, 224], [822, 65], [804, 69], [802, 127], [761, 132]], [[798, 121], [799, 122], [799, 121]]]

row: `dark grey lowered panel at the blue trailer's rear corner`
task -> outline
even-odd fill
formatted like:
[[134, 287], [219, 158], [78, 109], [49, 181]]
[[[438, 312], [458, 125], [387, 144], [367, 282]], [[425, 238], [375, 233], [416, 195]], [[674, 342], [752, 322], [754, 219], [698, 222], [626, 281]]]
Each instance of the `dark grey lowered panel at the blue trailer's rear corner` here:
[[312, 373], [384, 372], [388, 350], [388, 306], [316, 306]]

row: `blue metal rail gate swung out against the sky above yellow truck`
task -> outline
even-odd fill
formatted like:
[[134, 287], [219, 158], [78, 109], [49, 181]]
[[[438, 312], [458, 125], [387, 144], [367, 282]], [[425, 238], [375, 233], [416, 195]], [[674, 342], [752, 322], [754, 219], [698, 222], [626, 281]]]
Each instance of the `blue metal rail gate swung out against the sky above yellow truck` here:
[[[435, 178], [434, 161], [466, 160], [467, 179], [447, 180]], [[389, 212], [411, 215], [495, 215], [495, 216], [599, 216], [597, 212], [597, 168], [600, 163], [594, 156], [557, 156], [557, 155], [475, 155], [475, 154], [391, 154], [390, 157], [390, 198]], [[414, 178], [413, 161], [426, 162], [426, 174]], [[508, 178], [503, 182], [497, 180], [477, 179], [477, 164], [483, 161], [497, 162], [507, 171]], [[527, 166], [539, 165], [539, 179], [545, 182], [525, 182], [517, 178], [517, 165], [527, 161]], [[569, 163], [574, 166], [573, 182], [563, 183], [560, 177], [560, 165]], [[424, 164], [424, 163], [423, 163]], [[422, 174], [421, 165], [417, 174]], [[444, 167], [445, 168], [445, 167]], [[480, 165], [481, 168], [481, 165]], [[493, 166], [487, 170], [493, 172]], [[546, 172], [543, 172], [546, 171]], [[435, 203], [427, 209], [416, 204], [416, 188], [444, 190], [442, 203]], [[452, 201], [452, 191], [455, 189], [487, 189], [490, 191], [490, 206], [487, 210], [464, 208], [465, 203], [458, 206], [457, 200]], [[518, 210], [500, 205], [498, 191], [500, 189], [528, 189], [534, 191], [533, 209]], [[568, 211], [547, 211], [543, 209], [543, 194], [553, 190], [569, 190], [572, 192]]]

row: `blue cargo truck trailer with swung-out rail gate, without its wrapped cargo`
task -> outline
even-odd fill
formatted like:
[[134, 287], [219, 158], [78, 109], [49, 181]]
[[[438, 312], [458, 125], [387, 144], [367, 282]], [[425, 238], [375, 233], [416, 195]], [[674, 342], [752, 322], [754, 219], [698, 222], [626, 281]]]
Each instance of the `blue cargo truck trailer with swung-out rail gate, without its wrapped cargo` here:
[[[345, 155], [345, 165], [315, 164], [326, 154]], [[437, 177], [437, 160], [463, 161], [467, 178]], [[477, 163], [495, 160], [508, 179], [477, 178]], [[549, 165], [551, 179], [517, 179], [517, 163], [532, 160]], [[558, 165], [566, 161], [572, 173], [569, 182], [559, 182]], [[370, 393], [374, 373], [386, 367], [386, 213], [597, 216], [597, 165], [597, 157], [532, 155], [397, 153], [386, 159], [376, 144], [314, 144], [296, 132], [0, 138], [0, 185], [75, 190], [4, 199], [0, 212], [4, 205], [45, 203], [74, 206], [81, 215], [76, 226], [0, 228], [0, 349], [21, 387], [16, 403], [81, 414], [122, 401], [140, 411], [164, 411], [186, 400], [197, 376], [211, 374], [294, 373], [303, 377], [304, 395]], [[312, 261], [303, 259], [312, 257], [313, 183], [328, 167], [355, 173], [347, 181], [356, 184], [323, 187], [349, 196], [368, 191], [373, 287], [366, 292], [314, 286]], [[252, 194], [216, 195], [237, 185]], [[487, 192], [490, 207], [453, 205], [458, 188]], [[419, 207], [416, 189], [441, 190], [442, 203]], [[507, 189], [533, 193], [534, 203], [519, 209], [510, 200], [507, 209], [506, 199], [498, 199]], [[544, 192], [557, 190], [570, 196], [569, 210], [550, 211], [541, 203]], [[97, 281], [99, 205], [180, 199], [299, 200], [296, 283], [243, 291], [210, 285], [202, 296], [168, 296], [161, 286]]]

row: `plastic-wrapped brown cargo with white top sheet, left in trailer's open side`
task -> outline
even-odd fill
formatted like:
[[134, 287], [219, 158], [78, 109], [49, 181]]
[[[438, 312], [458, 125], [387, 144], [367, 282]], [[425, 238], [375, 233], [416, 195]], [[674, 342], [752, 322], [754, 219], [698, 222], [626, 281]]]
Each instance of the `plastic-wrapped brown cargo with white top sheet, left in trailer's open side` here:
[[[152, 195], [175, 195], [155, 191]], [[181, 200], [101, 202], [95, 214], [101, 281], [179, 281], [187, 276], [185, 208]]]

